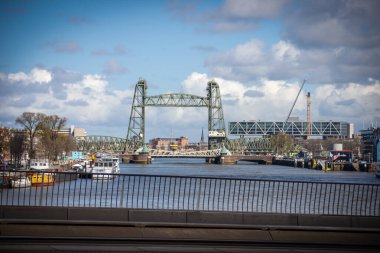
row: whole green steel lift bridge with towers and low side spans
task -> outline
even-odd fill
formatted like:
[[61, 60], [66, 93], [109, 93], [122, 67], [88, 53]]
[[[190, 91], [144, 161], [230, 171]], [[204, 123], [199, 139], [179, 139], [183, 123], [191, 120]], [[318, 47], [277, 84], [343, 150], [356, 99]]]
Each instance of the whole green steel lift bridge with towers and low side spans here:
[[[207, 83], [207, 96], [183, 93], [170, 93], [155, 96], [147, 95], [147, 83], [139, 80], [135, 86], [131, 114], [126, 139], [110, 136], [86, 136], [76, 139], [77, 149], [133, 154], [145, 143], [145, 107], [206, 107], [208, 109], [208, 150], [199, 154], [177, 154], [182, 157], [215, 156], [224, 145], [232, 153], [270, 152], [271, 143], [267, 138], [240, 138], [229, 140], [223, 116], [219, 85], [215, 81]], [[149, 151], [152, 156], [173, 156], [158, 150]], [[206, 152], [206, 153], [205, 153]]]

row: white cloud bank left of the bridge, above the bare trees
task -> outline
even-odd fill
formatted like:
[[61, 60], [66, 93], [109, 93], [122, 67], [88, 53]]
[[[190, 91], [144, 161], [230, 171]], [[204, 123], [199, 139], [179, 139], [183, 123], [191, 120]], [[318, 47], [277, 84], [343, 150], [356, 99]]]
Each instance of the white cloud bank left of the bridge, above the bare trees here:
[[[131, 101], [132, 91], [110, 89], [108, 80], [101, 75], [66, 78], [71, 75], [69, 71], [62, 72], [59, 81], [49, 71], [37, 68], [30, 74], [4, 75], [1, 90], [7, 94], [1, 94], [0, 122], [16, 119], [25, 111], [42, 112], [66, 117], [69, 124], [92, 129], [91, 134], [125, 136], [129, 117], [120, 115], [129, 113], [130, 103], [126, 101]], [[32, 86], [33, 83], [44, 85]], [[54, 88], [57, 85], [58, 90]], [[65, 96], [56, 99], [57, 92]]]

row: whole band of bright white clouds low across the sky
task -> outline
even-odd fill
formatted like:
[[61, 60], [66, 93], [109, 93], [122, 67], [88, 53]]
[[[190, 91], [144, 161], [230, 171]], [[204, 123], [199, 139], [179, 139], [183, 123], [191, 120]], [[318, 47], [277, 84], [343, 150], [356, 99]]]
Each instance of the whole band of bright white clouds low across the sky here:
[[[9, 75], [3, 76], [9, 78]], [[22, 75], [20, 76], [22, 79]], [[32, 79], [40, 82], [48, 80], [42, 78], [45, 76], [43, 74], [42, 77], [27, 76], [28, 78], [22, 79], [23, 82], [31, 82]], [[16, 75], [14, 79], [18, 77]], [[207, 82], [211, 80], [215, 80], [220, 87], [226, 127], [229, 121], [284, 121], [300, 88], [300, 83], [285, 80], [262, 78], [255, 82], [242, 83], [193, 72], [182, 82], [182, 90], [184, 93], [205, 97]], [[312, 89], [312, 120], [353, 122], [356, 126], [359, 125], [356, 129], [361, 127], [362, 122], [380, 121], [380, 82], [374, 78], [368, 81], [370, 84], [366, 85], [348, 83], [336, 86], [326, 83], [309, 86], [301, 92], [292, 116], [306, 119], [306, 91]], [[43, 112], [67, 117], [70, 124], [88, 129], [89, 134], [127, 134], [132, 90], [112, 90], [106, 77], [88, 74], [82, 75], [79, 81], [64, 83], [61, 87], [67, 96], [57, 100], [54, 97], [54, 92], [57, 91], [51, 88], [54, 82], [52, 80], [47, 83], [50, 89], [38, 91], [38, 99], [32, 99], [35, 94], [31, 92], [4, 96], [0, 101], [0, 119], [16, 118], [24, 111]], [[147, 140], [153, 137], [169, 137], [173, 131], [173, 136], [186, 135], [192, 141], [198, 141], [201, 129], [207, 131], [207, 108], [149, 107], [146, 113]]]

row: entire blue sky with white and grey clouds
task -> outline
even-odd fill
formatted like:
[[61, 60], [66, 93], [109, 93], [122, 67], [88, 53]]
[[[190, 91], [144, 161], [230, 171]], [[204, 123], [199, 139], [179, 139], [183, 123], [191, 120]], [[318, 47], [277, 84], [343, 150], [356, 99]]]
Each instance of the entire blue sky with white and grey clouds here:
[[[134, 86], [206, 96], [226, 123], [292, 116], [380, 126], [380, 1], [3, 0], [0, 125], [42, 112], [125, 137]], [[198, 142], [207, 109], [147, 108], [147, 139]], [[20, 126], [19, 126], [20, 127]], [[227, 127], [227, 126], [226, 126]]]

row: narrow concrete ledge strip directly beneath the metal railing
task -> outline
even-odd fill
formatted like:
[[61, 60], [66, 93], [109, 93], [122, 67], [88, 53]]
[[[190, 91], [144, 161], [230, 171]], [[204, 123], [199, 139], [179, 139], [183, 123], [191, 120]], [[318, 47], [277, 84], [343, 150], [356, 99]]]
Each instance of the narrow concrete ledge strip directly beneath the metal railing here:
[[1, 219], [380, 228], [380, 217], [79, 207], [0, 207]]

